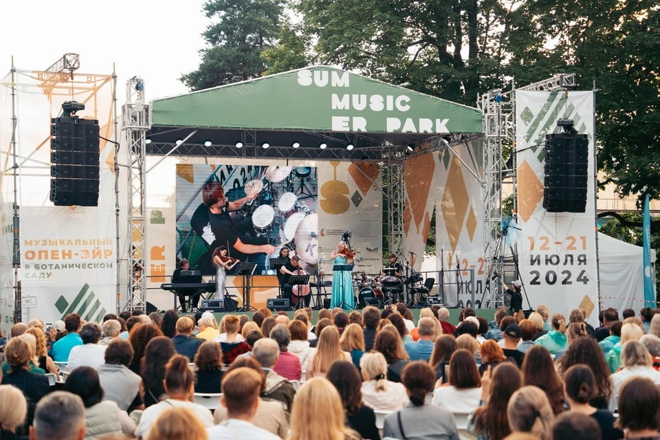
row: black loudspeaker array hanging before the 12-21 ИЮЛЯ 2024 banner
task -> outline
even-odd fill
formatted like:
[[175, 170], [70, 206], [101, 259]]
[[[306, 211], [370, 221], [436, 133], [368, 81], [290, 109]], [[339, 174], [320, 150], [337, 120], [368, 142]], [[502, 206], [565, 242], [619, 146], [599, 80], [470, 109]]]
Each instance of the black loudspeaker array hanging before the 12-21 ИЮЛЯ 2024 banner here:
[[588, 137], [571, 133], [545, 136], [543, 208], [584, 212], [588, 181]]

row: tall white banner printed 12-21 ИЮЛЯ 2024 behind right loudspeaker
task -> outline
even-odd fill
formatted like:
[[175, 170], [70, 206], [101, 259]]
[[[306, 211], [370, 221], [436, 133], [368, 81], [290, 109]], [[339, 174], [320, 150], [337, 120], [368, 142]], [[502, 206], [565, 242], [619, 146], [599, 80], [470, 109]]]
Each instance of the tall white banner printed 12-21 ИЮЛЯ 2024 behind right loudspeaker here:
[[[518, 153], [518, 243], [520, 275], [531, 307], [545, 304], [568, 318], [582, 307], [597, 324], [597, 250], [595, 239], [595, 163], [593, 92], [516, 91]], [[560, 133], [559, 118], [574, 120], [588, 135], [588, 179], [583, 213], [543, 208], [545, 135]], [[527, 301], [523, 301], [527, 307]]]

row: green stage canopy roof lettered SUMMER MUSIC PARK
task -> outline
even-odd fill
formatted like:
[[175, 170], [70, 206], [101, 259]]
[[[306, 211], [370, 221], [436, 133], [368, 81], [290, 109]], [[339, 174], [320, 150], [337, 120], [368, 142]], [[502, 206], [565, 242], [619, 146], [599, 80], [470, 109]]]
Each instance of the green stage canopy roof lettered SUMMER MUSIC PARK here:
[[478, 109], [327, 66], [155, 99], [151, 124], [149, 154], [178, 142], [179, 155], [223, 157], [380, 159], [439, 135], [482, 133]]

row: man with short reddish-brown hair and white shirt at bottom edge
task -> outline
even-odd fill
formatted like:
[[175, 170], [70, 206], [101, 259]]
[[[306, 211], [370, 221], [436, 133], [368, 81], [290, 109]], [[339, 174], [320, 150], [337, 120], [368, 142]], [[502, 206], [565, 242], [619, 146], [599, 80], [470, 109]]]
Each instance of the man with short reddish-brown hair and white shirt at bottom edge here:
[[261, 384], [261, 375], [245, 366], [222, 378], [220, 403], [227, 408], [228, 419], [208, 428], [209, 440], [279, 440], [272, 432], [252, 424], [259, 406]]

